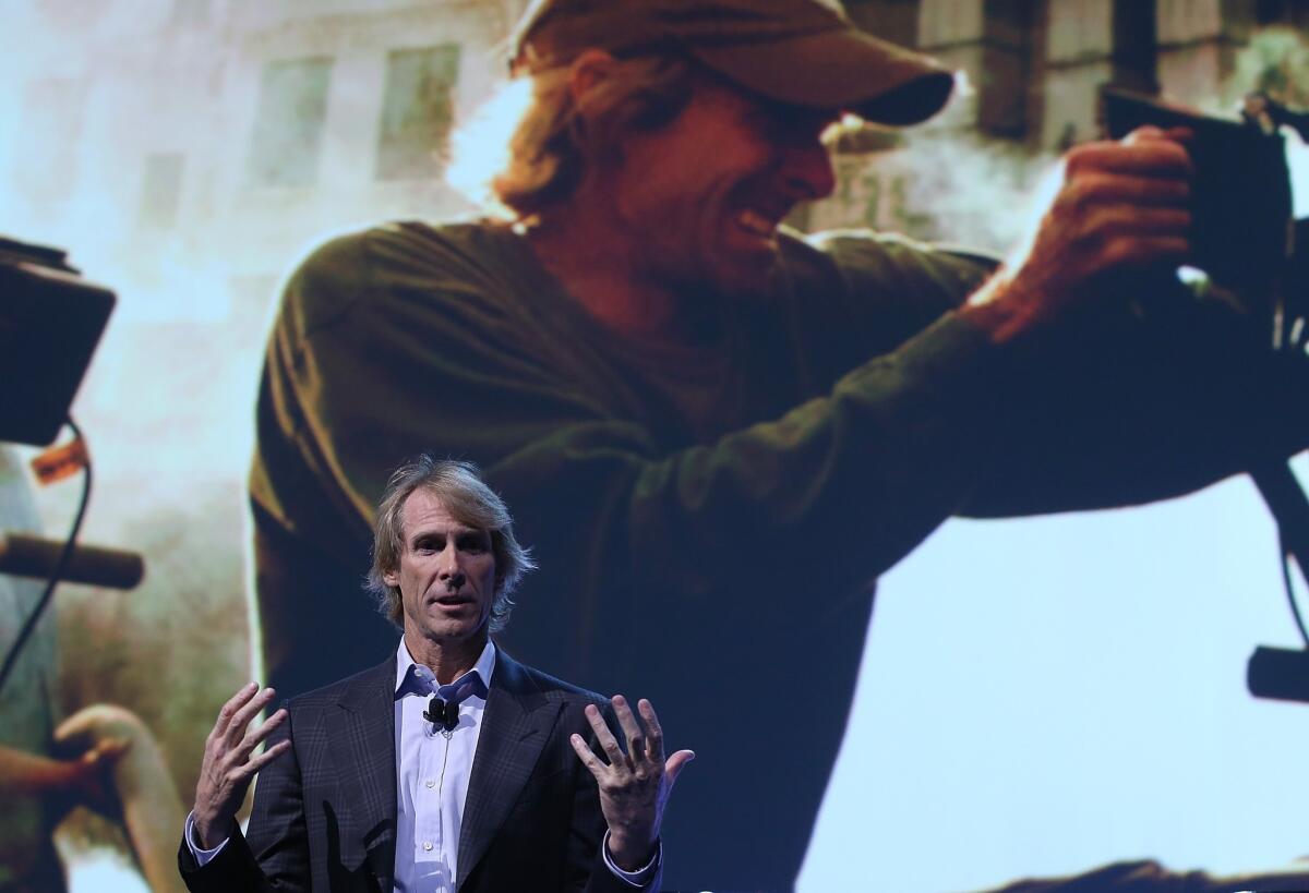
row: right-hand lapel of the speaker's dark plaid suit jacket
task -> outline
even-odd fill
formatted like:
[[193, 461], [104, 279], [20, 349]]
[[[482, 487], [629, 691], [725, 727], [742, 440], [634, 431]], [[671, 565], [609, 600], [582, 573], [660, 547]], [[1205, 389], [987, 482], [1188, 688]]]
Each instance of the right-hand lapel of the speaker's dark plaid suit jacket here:
[[522, 665], [503, 649], [496, 652], [482, 733], [473, 759], [469, 795], [459, 830], [456, 889], [486, 855], [487, 847], [518, 799], [541, 749], [559, 718], [562, 704], [546, 701]]

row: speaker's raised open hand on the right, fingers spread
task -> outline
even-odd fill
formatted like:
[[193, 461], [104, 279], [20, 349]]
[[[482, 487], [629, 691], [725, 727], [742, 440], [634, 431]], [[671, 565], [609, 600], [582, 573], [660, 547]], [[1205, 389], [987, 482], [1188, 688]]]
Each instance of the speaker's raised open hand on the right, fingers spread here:
[[665, 762], [664, 731], [653, 704], [644, 698], [636, 704], [645, 724], [644, 733], [623, 695], [614, 695], [613, 704], [627, 738], [627, 753], [623, 753], [594, 704], [586, 706], [586, 720], [609, 756], [609, 763], [592, 753], [580, 735], [573, 735], [571, 741], [577, 758], [600, 784], [600, 808], [609, 824], [609, 855], [623, 871], [637, 871], [654, 856], [668, 797], [682, 769], [695, 759], [695, 753], [678, 750]]

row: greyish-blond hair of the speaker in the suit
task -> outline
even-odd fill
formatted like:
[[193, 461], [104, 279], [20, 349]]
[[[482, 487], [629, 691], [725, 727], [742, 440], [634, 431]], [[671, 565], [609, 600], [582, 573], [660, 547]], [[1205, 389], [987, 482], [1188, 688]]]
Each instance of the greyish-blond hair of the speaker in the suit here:
[[377, 505], [373, 566], [365, 584], [377, 598], [377, 609], [391, 623], [403, 627], [404, 604], [399, 587], [387, 585], [385, 576], [399, 570], [404, 551], [404, 503], [416, 490], [424, 490], [441, 500], [445, 511], [459, 524], [491, 534], [496, 588], [490, 626], [492, 632], [503, 630], [513, 611], [513, 591], [524, 575], [537, 567], [531, 560], [531, 550], [514, 538], [509, 507], [482, 481], [478, 466], [456, 460], [436, 460], [428, 453], [395, 469]]

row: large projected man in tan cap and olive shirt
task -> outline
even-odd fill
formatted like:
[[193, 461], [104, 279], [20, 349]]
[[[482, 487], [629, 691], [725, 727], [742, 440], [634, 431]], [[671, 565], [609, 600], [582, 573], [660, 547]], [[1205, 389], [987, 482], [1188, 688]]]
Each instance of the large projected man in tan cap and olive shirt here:
[[[1241, 415], [1261, 364], [1138, 364], [1107, 334], [1134, 321], [1086, 322], [1187, 257], [1174, 135], [1073, 149], [995, 270], [783, 225], [835, 186], [833, 122], [920, 122], [953, 82], [831, 7], [545, 0], [511, 60], [501, 213], [346, 236], [288, 282], [251, 483], [264, 653], [292, 694], [394, 648], [339, 555], [395, 457], [475, 461], [546, 568], [505, 647], [694, 732], [670, 888], [792, 885], [873, 584], [945, 519], [1194, 488], [1240, 465], [1200, 419], [1309, 440]], [[308, 604], [359, 606], [325, 629]]]

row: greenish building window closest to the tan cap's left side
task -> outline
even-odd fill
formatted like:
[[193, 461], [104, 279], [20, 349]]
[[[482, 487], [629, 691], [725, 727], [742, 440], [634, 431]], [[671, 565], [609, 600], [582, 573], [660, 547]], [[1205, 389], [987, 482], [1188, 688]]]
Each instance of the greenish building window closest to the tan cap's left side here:
[[386, 56], [377, 179], [424, 179], [436, 174], [450, 131], [450, 97], [458, 73], [459, 47], [453, 43], [393, 50]]

